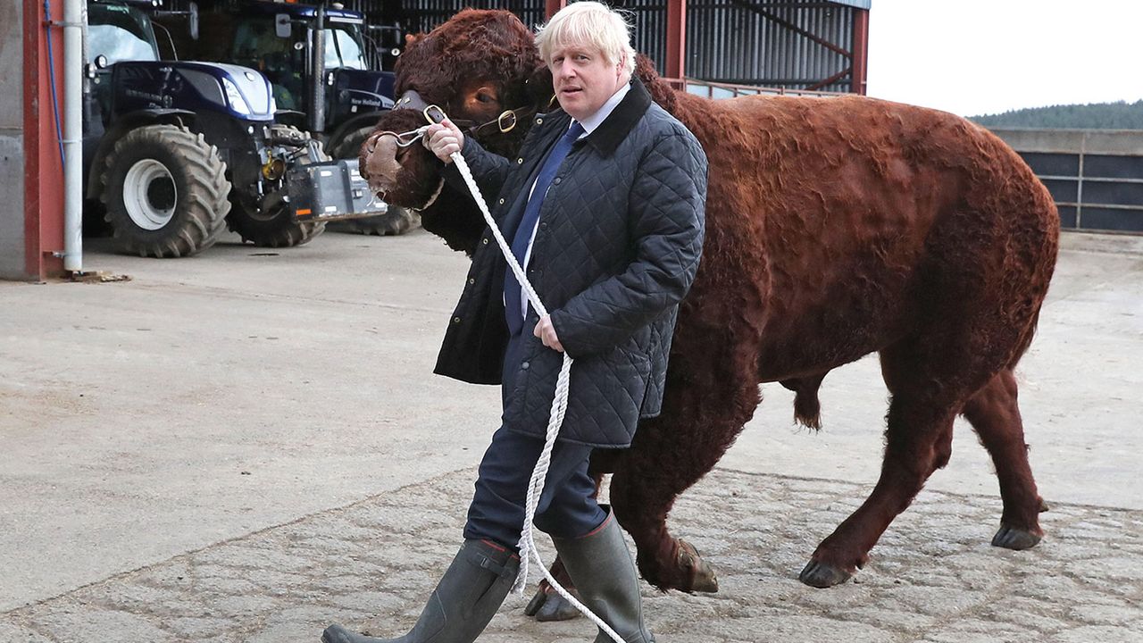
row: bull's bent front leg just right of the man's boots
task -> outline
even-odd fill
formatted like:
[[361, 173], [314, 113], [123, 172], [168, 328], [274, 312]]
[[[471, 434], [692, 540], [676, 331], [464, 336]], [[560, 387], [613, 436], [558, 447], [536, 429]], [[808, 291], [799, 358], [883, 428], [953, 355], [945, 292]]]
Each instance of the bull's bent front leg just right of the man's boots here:
[[[686, 382], [684, 373], [692, 375]], [[639, 572], [660, 589], [718, 590], [713, 570], [694, 547], [671, 535], [666, 516], [674, 499], [714, 467], [753, 414], [760, 399], [756, 373], [750, 367], [734, 376], [672, 363], [662, 415], [640, 424], [615, 469], [615, 516], [636, 542]]]

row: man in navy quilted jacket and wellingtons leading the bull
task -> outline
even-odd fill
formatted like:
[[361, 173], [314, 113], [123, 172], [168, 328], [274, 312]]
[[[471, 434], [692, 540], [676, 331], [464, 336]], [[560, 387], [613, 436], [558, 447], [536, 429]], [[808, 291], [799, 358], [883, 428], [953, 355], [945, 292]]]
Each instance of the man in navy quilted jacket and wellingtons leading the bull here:
[[[593, 448], [631, 444], [658, 414], [666, 356], [698, 265], [706, 157], [632, 79], [622, 16], [598, 2], [561, 9], [536, 38], [560, 109], [535, 119], [518, 159], [483, 150], [446, 121], [425, 144], [463, 152], [528, 280], [551, 311], [528, 305], [490, 232], [445, 336], [435, 372], [501, 383], [502, 426], [480, 465], [464, 546], [413, 630], [397, 640], [331, 626], [327, 643], [470, 643], [507, 595], [527, 484], [544, 444], [555, 379], [575, 359], [567, 414], [535, 525], [551, 534], [584, 603], [628, 643], [654, 641], [618, 525], [588, 475]], [[446, 178], [459, 186], [458, 172]], [[597, 641], [607, 641], [600, 632]]]

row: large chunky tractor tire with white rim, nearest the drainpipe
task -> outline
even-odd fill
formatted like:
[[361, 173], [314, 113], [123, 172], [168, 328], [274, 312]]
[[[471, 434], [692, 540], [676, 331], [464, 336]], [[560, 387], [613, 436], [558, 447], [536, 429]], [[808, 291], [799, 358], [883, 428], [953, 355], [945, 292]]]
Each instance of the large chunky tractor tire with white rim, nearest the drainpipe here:
[[218, 150], [176, 125], [129, 132], [107, 154], [101, 200], [120, 252], [159, 259], [209, 248], [230, 212]]

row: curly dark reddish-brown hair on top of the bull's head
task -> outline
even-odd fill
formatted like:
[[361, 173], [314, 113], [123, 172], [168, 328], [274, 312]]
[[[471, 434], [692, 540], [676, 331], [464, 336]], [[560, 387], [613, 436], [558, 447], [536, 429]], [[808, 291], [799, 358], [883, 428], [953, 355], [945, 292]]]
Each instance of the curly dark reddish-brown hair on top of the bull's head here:
[[523, 82], [542, 66], [533, 34], [515, 16], [464, 9], [426, 35], [410, 39], [397, 62], [397, 95], [416, 90], [426, 103], [448, 105], [474, 78], [505, 80], [502, 103], [530, 103]]

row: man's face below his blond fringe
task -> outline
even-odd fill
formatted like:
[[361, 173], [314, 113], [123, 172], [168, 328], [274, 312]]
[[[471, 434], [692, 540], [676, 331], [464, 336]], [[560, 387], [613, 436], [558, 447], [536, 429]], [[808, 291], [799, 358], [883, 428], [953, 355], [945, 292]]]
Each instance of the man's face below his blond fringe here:
[[557, 47], [547, 66], [555, 98], [576, 120], [596, 113], [622, 82], [621, 63], [608, 64], [601, 51], [581, 45]]

